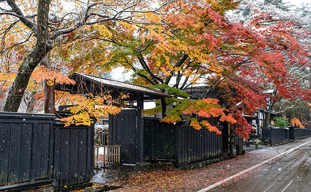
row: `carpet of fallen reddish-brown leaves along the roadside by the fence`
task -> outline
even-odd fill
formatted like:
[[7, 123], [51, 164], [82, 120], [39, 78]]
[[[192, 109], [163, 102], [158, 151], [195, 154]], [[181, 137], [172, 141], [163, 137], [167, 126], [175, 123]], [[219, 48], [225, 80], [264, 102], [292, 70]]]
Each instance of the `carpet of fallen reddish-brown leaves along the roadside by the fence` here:
[[159, 165], [144, 171], [129, 172], [126, 177], [121, 176], [121, 179], [115, 180], [112, 184], [122, 185], [123, 188], [113, 192], [195, 192], [266, 158], [246, 154], [193, 170], [176, 170], [171, 165]]

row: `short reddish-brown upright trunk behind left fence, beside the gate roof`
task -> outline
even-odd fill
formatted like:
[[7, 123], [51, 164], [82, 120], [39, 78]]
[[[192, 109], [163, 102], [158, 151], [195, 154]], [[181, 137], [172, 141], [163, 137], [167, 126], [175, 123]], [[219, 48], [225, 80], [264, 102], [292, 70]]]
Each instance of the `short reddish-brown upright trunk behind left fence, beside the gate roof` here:
[[[52, 70], [49, 59], [45, 56], [42, 60], [44, 66]], [[49, 85], [47, 80], [44, 81], [44, 113], [55, 114], [55, 80], [52, 85]]]

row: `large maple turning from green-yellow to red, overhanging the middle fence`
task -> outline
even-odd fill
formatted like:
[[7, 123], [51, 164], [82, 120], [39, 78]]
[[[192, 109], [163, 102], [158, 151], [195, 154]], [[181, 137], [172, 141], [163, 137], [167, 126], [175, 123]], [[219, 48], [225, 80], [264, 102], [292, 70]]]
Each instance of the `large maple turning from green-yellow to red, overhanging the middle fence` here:
[[[308, 67], [310, 49], [299, 40], [308, 34], [299, 22], [256, 7], [247, 20], [225, 15], [237, 5], [231, 0], [175, 1], [149, 17], [166, 25], [124, 23], [121, 29], [109, 28], [109, 34], [93, 33], [94, 39], [111, 45], [103, 69], [123, 66], [133, 71], [136, 83], [172, 94], [149, 111], [161, 111], [162, 121], [172, 123], [191, 114], [194, 128], [217, 131], [193, 117], [226, 117], [238, 124], [236, 133], [248, 137], [251, 126], [243, 114], [265, 108], [267, 97], [310, 99], [310, 90], [287, 68]], [[189, 99], [180, 91], [199, 82], [208, 87], [203, 99]], [[265, 94], [267, 85], [276, 88], [277, 96]], [[216, 90], [219, 97], [206, 100]]]

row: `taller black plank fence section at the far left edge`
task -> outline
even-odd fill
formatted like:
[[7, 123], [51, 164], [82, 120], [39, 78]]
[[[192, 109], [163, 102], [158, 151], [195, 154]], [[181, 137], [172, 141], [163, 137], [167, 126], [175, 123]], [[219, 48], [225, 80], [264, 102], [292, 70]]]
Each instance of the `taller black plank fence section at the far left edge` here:
[[0, 113], [0, 185], [53, 179], [54, 119]]

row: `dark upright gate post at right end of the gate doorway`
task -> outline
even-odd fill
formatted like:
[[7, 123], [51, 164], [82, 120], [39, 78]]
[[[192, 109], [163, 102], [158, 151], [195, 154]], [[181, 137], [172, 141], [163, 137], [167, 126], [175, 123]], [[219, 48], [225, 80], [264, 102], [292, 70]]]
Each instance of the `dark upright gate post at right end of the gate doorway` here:
[[144, 96], [137, 96], [136, 163], [144, 163]]

